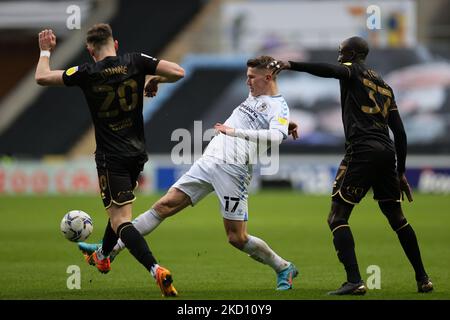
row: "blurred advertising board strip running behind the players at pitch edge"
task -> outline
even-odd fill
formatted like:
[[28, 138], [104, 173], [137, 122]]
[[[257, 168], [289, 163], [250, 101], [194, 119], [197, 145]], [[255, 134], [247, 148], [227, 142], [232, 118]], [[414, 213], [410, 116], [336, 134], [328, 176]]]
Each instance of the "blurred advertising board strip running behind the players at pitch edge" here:
[[[288, 156], [281, 158], [276, 174], [261, 175], [256, 167], [250, 192], [265, 184], [284, 181], [293, 190], [308, 194], [329, 194], [340, 157], [325, 161]], [[168, 156], [151, 159], [139, 180], [143, 193], [165, 192], [188, 169], [173, 165]], [[407, 177], [412, 188], [424, 193], [450, 193], [450, 162], [447, 166], [413, 165]], [[276, 184], [272, 184], [276, 185]], [[95, 164], [89, 160], [42, 162], [14, 161], [0, 164], [0, 195], [98, 194]]]

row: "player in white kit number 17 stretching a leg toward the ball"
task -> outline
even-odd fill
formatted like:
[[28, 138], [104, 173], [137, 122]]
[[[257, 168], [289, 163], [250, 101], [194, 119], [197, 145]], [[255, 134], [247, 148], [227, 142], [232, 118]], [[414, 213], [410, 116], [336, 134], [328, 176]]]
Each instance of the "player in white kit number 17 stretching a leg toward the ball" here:
[[[280, 257], [262, 239], [247, 233], [248, 187], [257, 153], [264, 146], [278, 146], [289, 134], [297, 138], [296, 125], [289, 124], [287, 103], [278, 94], [276, 66], [270, 67], [273, 61], [275, 59], [269, 56], [247, 61], [250, 89], [247, 99], [234, 109], [224, 124], [215, 125], [218, 134], [202, 157], [133, 223], [141, 234], [147, 235], [165, 218], [189, 205], [195, 206], [214, 191], [221, 203], [229, 243], [269, 265], [277, 274], [277, 290], [288, 290], [292, 288], [292, 279], [298, 275], [295, 265]], [[93, 245], [79, 244], [82, 251], [89, 251], [90, 246]], [[119, 239], [113, 254], [123, 247]]]

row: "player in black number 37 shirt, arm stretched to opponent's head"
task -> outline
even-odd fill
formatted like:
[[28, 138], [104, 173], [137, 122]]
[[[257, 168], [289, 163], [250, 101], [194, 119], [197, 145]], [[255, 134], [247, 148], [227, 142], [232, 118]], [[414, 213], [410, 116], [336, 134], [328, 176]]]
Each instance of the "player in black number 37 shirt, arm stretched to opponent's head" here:
[[[418, 292], [430, 292], [433, 284], [425, 272], [414, 230], [400, 205], [403, 193], [412, 201], [405, 177], [405, 130], [391, 87], [364, 64], [368, 53], [369, 47], [363, 38], [351, 37], [340, 45], [339, 65], [273, 62], [275, 67], [278, 65], [276, 73], [281, 70], [307, 72], [323, 78], [336, 78], [340, 83], [346, 153], [334, 181], [328, 225], [339, 261], [345, 267], [347, 281], [328, 294], [366, 293], [348, 219], [354, 205], [370, 188], [414, 268]], [[394, 143], [389, 137], [389, 128], [394, 134]]]

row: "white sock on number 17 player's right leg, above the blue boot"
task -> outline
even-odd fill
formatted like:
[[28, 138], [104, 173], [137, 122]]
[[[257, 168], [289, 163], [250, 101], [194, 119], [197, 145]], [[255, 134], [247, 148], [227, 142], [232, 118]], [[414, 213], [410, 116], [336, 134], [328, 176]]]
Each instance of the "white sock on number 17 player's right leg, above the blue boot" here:
[[289, 266], [289, 262], [277, 255], [264, 240], [251, 235], [248, 235], [248, 241], [242, 251], [256, 261], [268, 264], [277, 273]]

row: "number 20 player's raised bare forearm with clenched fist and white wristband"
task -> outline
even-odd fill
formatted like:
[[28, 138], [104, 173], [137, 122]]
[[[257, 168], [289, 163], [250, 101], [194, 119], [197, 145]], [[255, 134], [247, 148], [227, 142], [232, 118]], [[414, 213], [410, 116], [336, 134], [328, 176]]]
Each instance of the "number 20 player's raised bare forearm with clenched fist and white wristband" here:
[[39, 48], [41, 55], [36, 67], [35, 79], [41, 86], [64, 85], [62, 75], [64, 70], [50, 69], [50, 54], [56, 47], [56, 36], [52, 30], [43, 30], [39, 33]]

